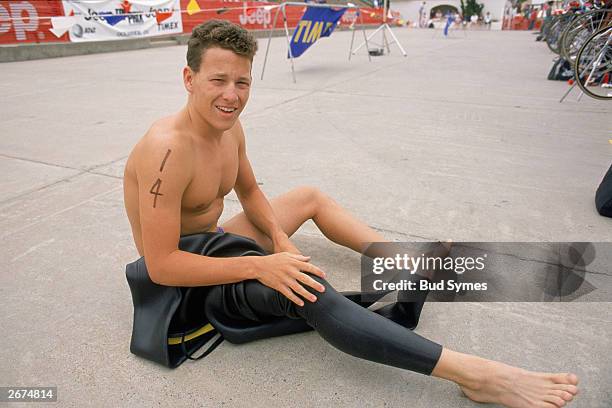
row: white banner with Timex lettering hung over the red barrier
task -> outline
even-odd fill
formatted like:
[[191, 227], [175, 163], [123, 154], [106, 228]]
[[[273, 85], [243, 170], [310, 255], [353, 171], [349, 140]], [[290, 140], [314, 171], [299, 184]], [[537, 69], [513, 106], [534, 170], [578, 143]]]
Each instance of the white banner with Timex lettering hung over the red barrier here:
[[64, 0], [64, 17], [53, 19], [70, 41], [104, 41], [181, 34], [180, 0]]

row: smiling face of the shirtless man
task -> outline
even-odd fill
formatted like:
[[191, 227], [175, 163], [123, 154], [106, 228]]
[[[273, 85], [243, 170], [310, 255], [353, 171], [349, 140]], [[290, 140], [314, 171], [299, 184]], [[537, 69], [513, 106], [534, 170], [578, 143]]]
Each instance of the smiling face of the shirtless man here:
[[185, 87], [196, 112], [214, 129], [230, 129], [251, 89], [251, 61], [223, 48], [204, 51], [200, 71], [185, 68]]

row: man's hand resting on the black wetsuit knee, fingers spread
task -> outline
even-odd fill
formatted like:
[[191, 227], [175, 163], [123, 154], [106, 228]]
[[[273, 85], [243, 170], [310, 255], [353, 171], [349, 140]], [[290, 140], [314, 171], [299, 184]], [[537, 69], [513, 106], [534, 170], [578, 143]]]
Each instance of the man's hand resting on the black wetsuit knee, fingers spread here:
[[325, 279], [325, 272], [308, 263], [309, 256], [280, 252], [254, 257], [253, 260], [256, 263], [256, 279], [282, 293], [298, 306], [304, 306], [304, 301], [296, 294], [311, 302], [317, 300], [317, 297], [308, 292], [302, 284], [308, 285], [319, 292], [325, 291], [325, 286], [304, 273], [308, 272]]

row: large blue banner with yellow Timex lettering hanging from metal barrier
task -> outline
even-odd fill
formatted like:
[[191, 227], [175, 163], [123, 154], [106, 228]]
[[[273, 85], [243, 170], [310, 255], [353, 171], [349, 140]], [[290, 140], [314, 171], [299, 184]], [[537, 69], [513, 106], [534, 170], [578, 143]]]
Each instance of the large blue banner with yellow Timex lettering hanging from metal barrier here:
[[329, 37], [345, 11], [345, 8], [334, 10], [308, 7], [291, 37], [290, 50], [293, 58], [302, 55], [320, 37]]

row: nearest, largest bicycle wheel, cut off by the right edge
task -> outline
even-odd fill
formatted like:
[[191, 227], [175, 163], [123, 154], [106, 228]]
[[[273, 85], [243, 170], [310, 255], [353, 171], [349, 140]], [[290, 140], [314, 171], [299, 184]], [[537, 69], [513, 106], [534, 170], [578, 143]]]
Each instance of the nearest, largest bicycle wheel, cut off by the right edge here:
[[574, 72], [582, 92], [595, 99], [612, 99], [612, 26], [585, 41], [578, 51]]

